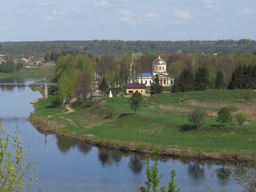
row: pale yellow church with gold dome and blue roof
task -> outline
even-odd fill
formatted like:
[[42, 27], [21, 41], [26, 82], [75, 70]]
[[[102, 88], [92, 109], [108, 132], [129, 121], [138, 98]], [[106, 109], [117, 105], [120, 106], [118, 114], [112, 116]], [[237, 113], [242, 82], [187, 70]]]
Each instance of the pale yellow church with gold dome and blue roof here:
[[161, 59], [159, 55], [159, 57], [152, 63], [152, 73], [137, 73], [136, 77], [129, 76], [128, 83], [138, 82], [150, 86], [151, 83], [153, 83], [155, 76], [158, 75], [160, 85], [163, 87], [172, 86], [174, 77], [166, 71], [166, 65], [165, 61]]

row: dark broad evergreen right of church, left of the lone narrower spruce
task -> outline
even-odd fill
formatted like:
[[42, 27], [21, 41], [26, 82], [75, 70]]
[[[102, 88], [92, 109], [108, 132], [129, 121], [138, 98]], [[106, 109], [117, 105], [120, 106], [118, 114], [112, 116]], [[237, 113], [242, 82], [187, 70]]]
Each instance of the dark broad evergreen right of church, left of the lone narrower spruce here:
[[209, 84], [208, 71], [205, 67], [200, 67], [195, 73], [195, 91], [205, 91]]

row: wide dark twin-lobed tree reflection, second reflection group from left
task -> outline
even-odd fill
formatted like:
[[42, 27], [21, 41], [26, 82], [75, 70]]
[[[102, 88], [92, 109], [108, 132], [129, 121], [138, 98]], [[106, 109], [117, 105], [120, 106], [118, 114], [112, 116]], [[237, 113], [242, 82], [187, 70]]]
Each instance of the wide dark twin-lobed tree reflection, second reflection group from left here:
[[119, 151], [112, 151], [108, 149], [98, 148], [99, 160], [102, 164], [118, 163], [122, 159], [122, 153]]

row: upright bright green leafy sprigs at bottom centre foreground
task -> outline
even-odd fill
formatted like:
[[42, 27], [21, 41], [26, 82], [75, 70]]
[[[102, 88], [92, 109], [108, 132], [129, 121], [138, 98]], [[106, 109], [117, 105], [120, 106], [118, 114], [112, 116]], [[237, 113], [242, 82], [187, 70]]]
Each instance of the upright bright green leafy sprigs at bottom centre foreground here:
[[158, 157], [159, 157], [160, 151], [159, 149], [155, 149], [155, 163], [154, 166], [150, 168], [149, 161], [150, 161], [150, 155], [146, 155], [146, 175], [148, 178], [148, 181], [145, 181], [145, 187], [140, 186], [139, 191], [141, 192], [179, 192], [180, 189], [176, 190], [176, 184], [174, 182], [174, 176], [176, 175], [175, 170], [171, 170], [171, 180], [168, 184], [168, 188], [166, 190], [166, 187], [161, 187], [160, 190], [158, 190], [158, 185], [160, 183], [160, 180], [162, 178], [161, 176], [158, 176]]

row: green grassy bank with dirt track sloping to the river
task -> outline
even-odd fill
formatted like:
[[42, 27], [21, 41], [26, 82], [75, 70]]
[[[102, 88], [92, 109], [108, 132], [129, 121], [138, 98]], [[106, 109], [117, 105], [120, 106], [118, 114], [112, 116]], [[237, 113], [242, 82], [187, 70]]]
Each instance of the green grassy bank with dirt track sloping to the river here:
[[[30, 120], [38, 129], [121, 150], [148, 153], [158, 147], [165, 155], [250, 159], [256, 149], [256, 103], [241, 102], [246, 91], [167, 92], [144, 97], [145, 107], [137, 116], [130, 110], [127, 97], [104, 98], [92, 107], [74, 108], [72, 113], [66, 113], [65, 106], [49, 97], [35, 104], [36, 113]], [[187, 102], [179, 102], [181, 98]], [[199, 130], [192, 129], [187, 120], [195, 106], [207, 113]], [[248, 121], [221, 125], [215, 119], [223, 106], [233, 114], [247, 113]]]

